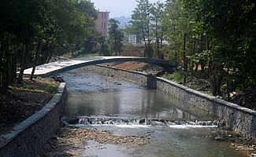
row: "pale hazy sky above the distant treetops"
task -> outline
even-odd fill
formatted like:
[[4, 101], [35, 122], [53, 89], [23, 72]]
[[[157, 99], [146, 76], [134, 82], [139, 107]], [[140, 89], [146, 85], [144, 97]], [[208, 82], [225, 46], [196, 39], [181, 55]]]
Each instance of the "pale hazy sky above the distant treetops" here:
[[[158, 0], [150, 0], [157, 2]], [[165, 2], [165, 0], [160, 0]], [[131, 16], [133, 9], [137, 5], [136, 0], [91, 0], [95, 3], [96, 9], [109, 11], [110, 17]]]

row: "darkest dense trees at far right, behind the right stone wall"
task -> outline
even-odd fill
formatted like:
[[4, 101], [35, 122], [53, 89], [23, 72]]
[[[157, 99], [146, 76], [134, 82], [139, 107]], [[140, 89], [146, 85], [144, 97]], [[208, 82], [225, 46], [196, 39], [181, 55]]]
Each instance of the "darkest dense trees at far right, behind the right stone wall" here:
[[228, 96], [237, 87], [255, 89], [255, 2], [203, 0], [185, 1], [185, 5], [194, 9], [206, 39], [212, 41], [206, 45], [210, 79], [213, 85], [219, 84], [213, 94], [221, 94], [222, 80], [226, 80]]

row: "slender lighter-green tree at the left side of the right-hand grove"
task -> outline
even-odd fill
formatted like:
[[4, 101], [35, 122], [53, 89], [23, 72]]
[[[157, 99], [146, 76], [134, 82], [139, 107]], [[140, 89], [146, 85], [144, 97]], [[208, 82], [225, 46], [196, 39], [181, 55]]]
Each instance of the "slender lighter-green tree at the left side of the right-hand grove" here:
[[193, 13], [184, 8], [180, 0], [169, 0], [165, 5], [165, 12], [162, 17], [162, 27], [166, 32], [166, 39], [171, 46], [172, 56], [176, 64], [183, 64], [184, 83], [187, 82], [189, 68], [188, 58], [195, 53], [196, 32]]

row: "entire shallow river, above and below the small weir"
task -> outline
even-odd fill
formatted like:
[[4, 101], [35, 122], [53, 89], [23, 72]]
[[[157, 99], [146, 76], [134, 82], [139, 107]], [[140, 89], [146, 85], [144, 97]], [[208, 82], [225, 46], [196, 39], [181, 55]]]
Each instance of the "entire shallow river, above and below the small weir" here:
[[[69, 91], [65, 116], [79, 117], [77, 126], [94, 127], [121, 136], [143, 137], [150, 141], [139, 146], [88, 141], [83, 156], [245, 156], [243, 152], [228, 149], [225, 142], [208, 138], [217, 130], [214, 122], [207, 123], [214, 119], [213, 116], [184, 108], [169, 95], [124, 82], [115, 76], [88, 73], [83, 68], [61, 75]], [[84, 119], [94, 119], [95, 122], [88, 123]], [[145, 122], [147, 119], [151, 119], [148, 120], [150, 125]], [[198, 125], [197, 122], [206, 123]]]

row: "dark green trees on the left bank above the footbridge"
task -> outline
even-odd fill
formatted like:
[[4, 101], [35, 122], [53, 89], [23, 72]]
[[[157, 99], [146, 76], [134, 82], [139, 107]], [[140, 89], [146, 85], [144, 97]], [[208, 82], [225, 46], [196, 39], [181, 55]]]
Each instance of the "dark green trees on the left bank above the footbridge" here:
[[17, 79], [17, 68], [20, 82], [25, 68], [46, 63], [53, 55], [95, 46], [90, 44], [97, 40], [92, 39], [96, 14], [87, 0], [2, 0], [0, 90]]

